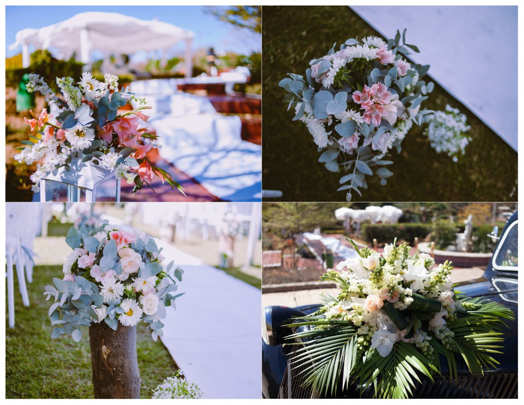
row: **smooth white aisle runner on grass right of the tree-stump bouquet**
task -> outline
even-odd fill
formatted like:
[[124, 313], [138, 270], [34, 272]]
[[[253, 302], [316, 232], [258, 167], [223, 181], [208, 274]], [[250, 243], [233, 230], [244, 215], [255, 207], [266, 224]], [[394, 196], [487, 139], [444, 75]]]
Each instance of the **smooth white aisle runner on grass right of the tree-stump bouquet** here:
[[157, 239], [184, 270], [162, 343], [203, 398], [260, 398], [261, 291]]

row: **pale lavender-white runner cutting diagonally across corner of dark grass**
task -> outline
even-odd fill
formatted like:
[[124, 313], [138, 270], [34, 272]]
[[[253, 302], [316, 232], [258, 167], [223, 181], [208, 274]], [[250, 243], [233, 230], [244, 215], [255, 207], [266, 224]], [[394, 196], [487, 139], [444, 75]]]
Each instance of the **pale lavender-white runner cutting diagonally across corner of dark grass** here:
[[517, 6], [351, 6], [517, 150]]

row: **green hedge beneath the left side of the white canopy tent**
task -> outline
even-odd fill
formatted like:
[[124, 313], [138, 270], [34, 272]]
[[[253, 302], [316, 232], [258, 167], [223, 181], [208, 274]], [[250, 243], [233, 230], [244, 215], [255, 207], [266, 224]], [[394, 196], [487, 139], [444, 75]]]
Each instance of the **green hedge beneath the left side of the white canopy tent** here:
[[31, 65], [28, 68], [6, 69], [6, 87], [16, 88], [25, 73], [36, 73], [43, 77], [51, 89], [57, 91], [57, 77], [80, 77], [82, 68], [83, 63], [74, 59], [55, 59], [48, 50], [37, 50], [31, 54]]

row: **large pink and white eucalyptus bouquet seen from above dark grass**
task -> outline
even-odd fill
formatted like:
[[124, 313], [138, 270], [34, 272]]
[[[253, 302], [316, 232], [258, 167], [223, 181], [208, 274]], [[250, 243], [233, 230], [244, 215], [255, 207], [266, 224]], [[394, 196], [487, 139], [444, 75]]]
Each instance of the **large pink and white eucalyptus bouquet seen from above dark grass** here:
[[311, 60], [305, 79], [289, 73], [279, 86], [288, 91], [284, 102], [294, 110], [293, 121], [302, 121], [323, 151], [319, 162], [345, 173], [338, 190], [346, 190], [350, 201], [353, 191], [367, 188], [366, 175], [387, 183], [392, 172], [385, 166], [392, 162], [384, 157], [392, 148], [400, 152], [413, 122], [421, 125], [431, 112], [421, 111], [421, 103], [434, 84], [422, 80], [429, 65], [405, 59], [409, 49], [418, 52], [406, 44], [406, 30], [387, 42], [351, 38], [336, 52], [335, 45]]

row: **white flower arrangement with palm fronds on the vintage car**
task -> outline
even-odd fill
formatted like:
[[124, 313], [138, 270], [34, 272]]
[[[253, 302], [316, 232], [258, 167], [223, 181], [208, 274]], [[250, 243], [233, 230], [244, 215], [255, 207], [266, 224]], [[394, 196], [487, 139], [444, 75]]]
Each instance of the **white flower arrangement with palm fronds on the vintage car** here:
[[[292, 367], [320, 395], [355, 383], [374, 387], [378, 398], [407, 398], [420, 381], [433, 380], [445, 358], [456, 377], [462, 357], [473, 375], [494, 367], [503, 347], [500, 329], [514, 314], [505, 306], [454, 291], [451, 262], [435, 267], [430, 255], [410, 255], [406, 243], [386, 244], [383, 253], [363, 248], [322, 280], [334, 282], [337, 297], [326, 295], [319, 311], [297, 319], [288, 339], [300, 345]], [[344, 270], [346, 269], [346, 270]]]

